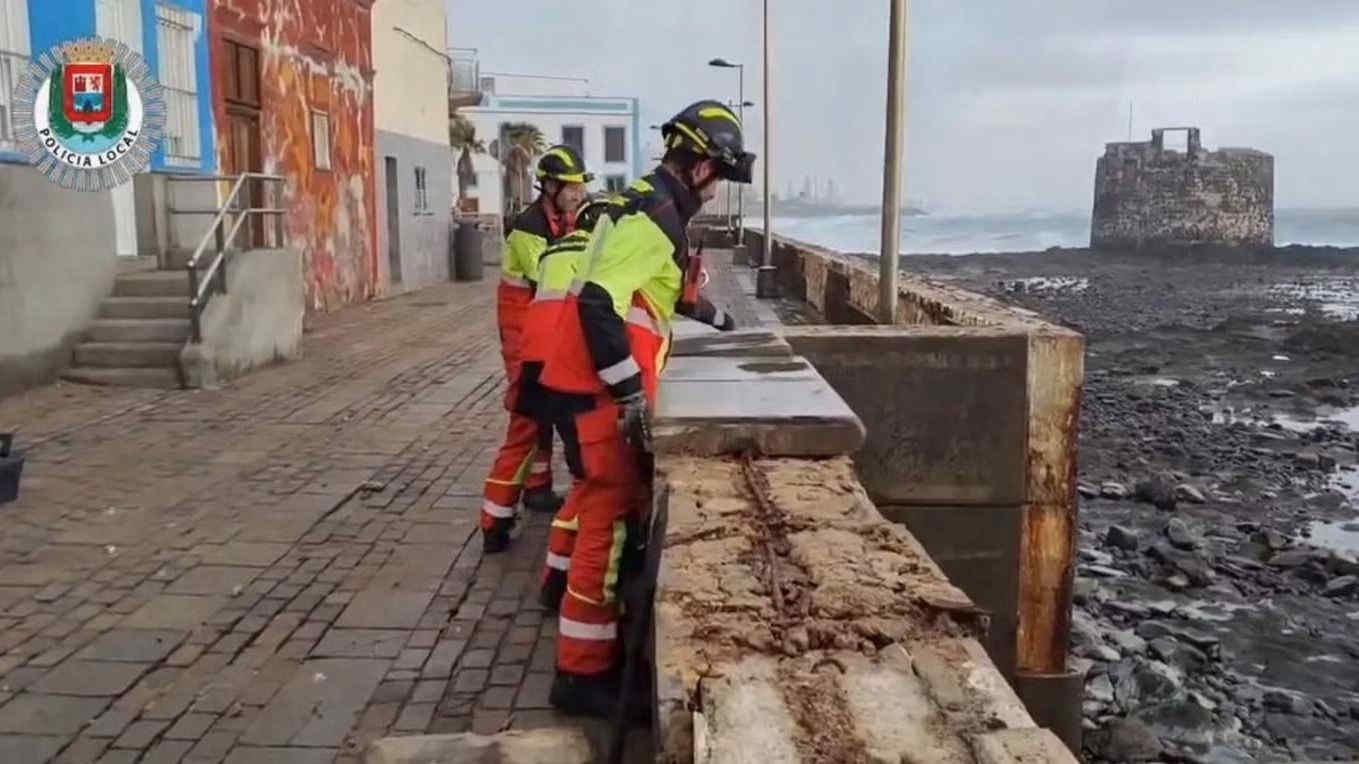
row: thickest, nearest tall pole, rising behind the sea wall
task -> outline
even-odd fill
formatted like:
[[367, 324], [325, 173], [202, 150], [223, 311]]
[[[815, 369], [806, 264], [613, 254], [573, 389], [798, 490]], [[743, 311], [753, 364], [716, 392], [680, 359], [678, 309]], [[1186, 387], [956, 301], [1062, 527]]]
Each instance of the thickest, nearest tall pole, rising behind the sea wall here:
[[878, 257], [878, 322], [897, 322], [897, 249], [901, 245], [902, 92], [906, 84], [906, 0], [892, 0], [887, 39], [887, 145], [882, 167], [882, 254]]

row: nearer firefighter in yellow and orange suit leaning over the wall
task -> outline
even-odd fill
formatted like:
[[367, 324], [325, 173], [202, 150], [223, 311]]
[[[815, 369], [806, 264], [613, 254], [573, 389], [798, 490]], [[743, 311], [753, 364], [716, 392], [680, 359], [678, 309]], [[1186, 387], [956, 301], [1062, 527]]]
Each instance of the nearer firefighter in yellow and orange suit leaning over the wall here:
[[[556, 396], [578, 532], [557, 617], [552, 704], [606, 715], [620, 692], [618, 576], [629, 519], [639, 508], [640, 465], [651, 447], [650, 408], [675, 313], [723, 330], [731, 318], [685, 288], [685, 227], [718, 181], [750, 182], [754, 155], [741, 122], [700, 101], [662, 128], [662, 166], [636, 181], [595, 226], [567, 295], [541, 382]], [[688, 294], [688, 298], [686, 298]]]

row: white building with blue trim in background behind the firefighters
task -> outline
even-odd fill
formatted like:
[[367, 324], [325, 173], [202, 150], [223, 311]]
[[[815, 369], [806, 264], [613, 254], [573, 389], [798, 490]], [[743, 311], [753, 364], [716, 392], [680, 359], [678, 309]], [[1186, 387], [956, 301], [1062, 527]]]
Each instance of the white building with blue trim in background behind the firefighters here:
[[[480, 88], [477, 106], [458, 109], [489, 150], [473, 155], [476, 178], [467, 198], [459, 201], [463, 212], [515, 212], [504, 208], [506, 178], [493, 155], [503, 125], [529, 122], [542, 132], [548, 145], [575, 147], [595, 175], [591, 192], [621, 190], [648, 166], [636, 98], [593, 97], [588, 83], [580, 79], [495, 72], [481, 72]], [[453, 184], [457, 196], [457, 173]]]

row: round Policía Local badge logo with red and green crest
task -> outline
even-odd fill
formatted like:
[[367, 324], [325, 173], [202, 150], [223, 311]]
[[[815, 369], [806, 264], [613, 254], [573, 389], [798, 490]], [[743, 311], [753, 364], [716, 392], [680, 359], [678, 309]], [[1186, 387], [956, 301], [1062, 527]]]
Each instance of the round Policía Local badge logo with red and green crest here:
[[145, 170], [166, 121], [151, 67], [114, 39], [76, 39], [37, 56], [15, 95], [19, 145], [75, 190], [106, 190]]

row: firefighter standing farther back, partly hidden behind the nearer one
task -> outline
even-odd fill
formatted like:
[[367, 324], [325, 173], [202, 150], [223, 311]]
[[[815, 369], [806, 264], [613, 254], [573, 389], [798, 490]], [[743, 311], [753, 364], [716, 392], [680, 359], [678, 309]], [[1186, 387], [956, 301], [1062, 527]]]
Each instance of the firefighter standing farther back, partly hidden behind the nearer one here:
[[481, 533], [487, 552], [510, 545], [515, 504], [520, 492], [529, 510], [554, 513], [561, 499], [552, 492], [552, 431], [540, 430], [531, 416], [516, 413], [523, 349], [523, 322], [533, 300], [538, 258], [571, 232], [572, 218], [584, 200], [586, 173], [580, 155], [568, 145], [554, 145], [538, 160], [538, 198], [515, 219], [506, 237], [496, 319], [500, 325], [500, 356], [506, 364], [506, 409], [510, 428], [487, 476], [481, 500]]

